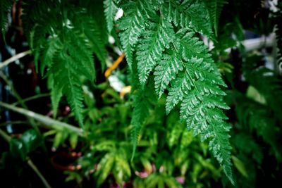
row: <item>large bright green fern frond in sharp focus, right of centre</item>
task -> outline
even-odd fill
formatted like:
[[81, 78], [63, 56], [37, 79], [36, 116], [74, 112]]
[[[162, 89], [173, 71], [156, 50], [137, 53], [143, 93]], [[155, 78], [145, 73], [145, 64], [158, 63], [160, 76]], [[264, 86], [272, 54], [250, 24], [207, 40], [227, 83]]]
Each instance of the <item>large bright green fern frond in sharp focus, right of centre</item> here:
[[165, 0], [122, 1], [120, 6], [121, 43], [129, 65], [136, 57], [140, 83], [146, 85], [154, 72], [158, 96], [168, 91], [166, 112], [180, 104], [180, 118], [202, 140], [210, 139], [209, 149], [233, 183], [230, 125], [222, 111], [228, 109], [221, 90], [226, 84], [195, 33], [213, 38], [207, 6], [202, 1]]

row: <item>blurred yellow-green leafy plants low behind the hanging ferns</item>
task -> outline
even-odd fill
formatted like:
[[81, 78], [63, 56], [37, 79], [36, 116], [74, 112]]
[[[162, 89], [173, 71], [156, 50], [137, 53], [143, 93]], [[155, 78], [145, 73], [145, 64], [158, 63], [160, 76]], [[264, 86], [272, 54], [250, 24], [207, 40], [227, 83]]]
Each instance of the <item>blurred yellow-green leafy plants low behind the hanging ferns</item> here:
[[[109, 89], [106, 87], [103, 91], [109, 93]], [[135, 95], [138, 94], [140, 91], [136, 91]], [[81, 180], [82, 175], [92, 175], [97, 187], [109, 187], [110, 182], [116, 182], [120, 187], [130, 186], [131, 181], [135, 187], [209, 187], [210, 176], [220, 177], [219, 165], [207, 155], [207, 142], [200, 142], [188, 130], [183, 131], [185, 124], [179, 121], [178, 111], [171, 111], [166, 117], [163, 100], [160, 104], [156, 101], [145, 103], [150, 104], [149, 116], [145, 115], [143, 122], [140, 120], [144, 129], [138, 133], [135, 158], [130, 161], [133, 130], [128, 124], [133, 124], [130, 118], [135, 109], [131, 112], [130, 106], [135, 101], [109, 103], [107, 98], [104, 96], [100, 101], [104, 104], [101, 108], [87, 108], [88, 145], [84, 147], [85, 155], [78, 160], [82, 172], [79, 177], [78, 173], [68, 173], [68, 180]], [[147, 108], [142, 113], [146, 113]], [[142, 177], [142, 173], [147, 177]], [[180, 184], [176, 177], [185, 183]]]

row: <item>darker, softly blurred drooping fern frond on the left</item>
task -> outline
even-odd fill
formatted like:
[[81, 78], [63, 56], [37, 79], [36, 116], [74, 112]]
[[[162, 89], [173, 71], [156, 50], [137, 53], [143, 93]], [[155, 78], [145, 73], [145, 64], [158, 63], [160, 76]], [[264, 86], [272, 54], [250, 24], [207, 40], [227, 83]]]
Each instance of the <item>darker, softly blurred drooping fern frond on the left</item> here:
[[61, 96], [66, 96], [83, 125], [82, 78], [94, 80], [93, 54], [102, 64], [106, 56], [98, 24], [85, 7], [68, 1], [26, 1], [23, 12], [35, 64], [42, 75], [47, 68], [54, 115]]

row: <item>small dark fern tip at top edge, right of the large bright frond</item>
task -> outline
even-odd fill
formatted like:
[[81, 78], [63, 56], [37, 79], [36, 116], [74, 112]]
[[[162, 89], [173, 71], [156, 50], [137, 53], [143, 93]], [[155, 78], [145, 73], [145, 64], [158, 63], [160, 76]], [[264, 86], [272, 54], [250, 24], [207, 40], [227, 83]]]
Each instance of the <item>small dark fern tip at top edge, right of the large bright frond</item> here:
[[207, 4], [209, 10], [209, 18], [212, 21], [212, 25], [214, 25], [214, 33], [217, 37], [219, 28], [219, 16], [221, 15], [224, 4], [226, 4], [227, 2], [226, 0], [206, 0], [205, 3]]

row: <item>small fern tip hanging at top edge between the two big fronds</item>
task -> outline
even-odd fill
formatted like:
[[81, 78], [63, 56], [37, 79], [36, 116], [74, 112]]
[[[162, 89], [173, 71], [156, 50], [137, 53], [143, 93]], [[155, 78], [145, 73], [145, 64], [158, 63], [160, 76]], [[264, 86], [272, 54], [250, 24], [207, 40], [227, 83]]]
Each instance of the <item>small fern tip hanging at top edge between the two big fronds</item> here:
[[118, 11], [118, 6], [116, 6], [116, 0], [105, 0], [104, 1], [104, 14], [106, 18], [106, 27], [108, 32], [111, 33], [114, 27], [114, 16]]

